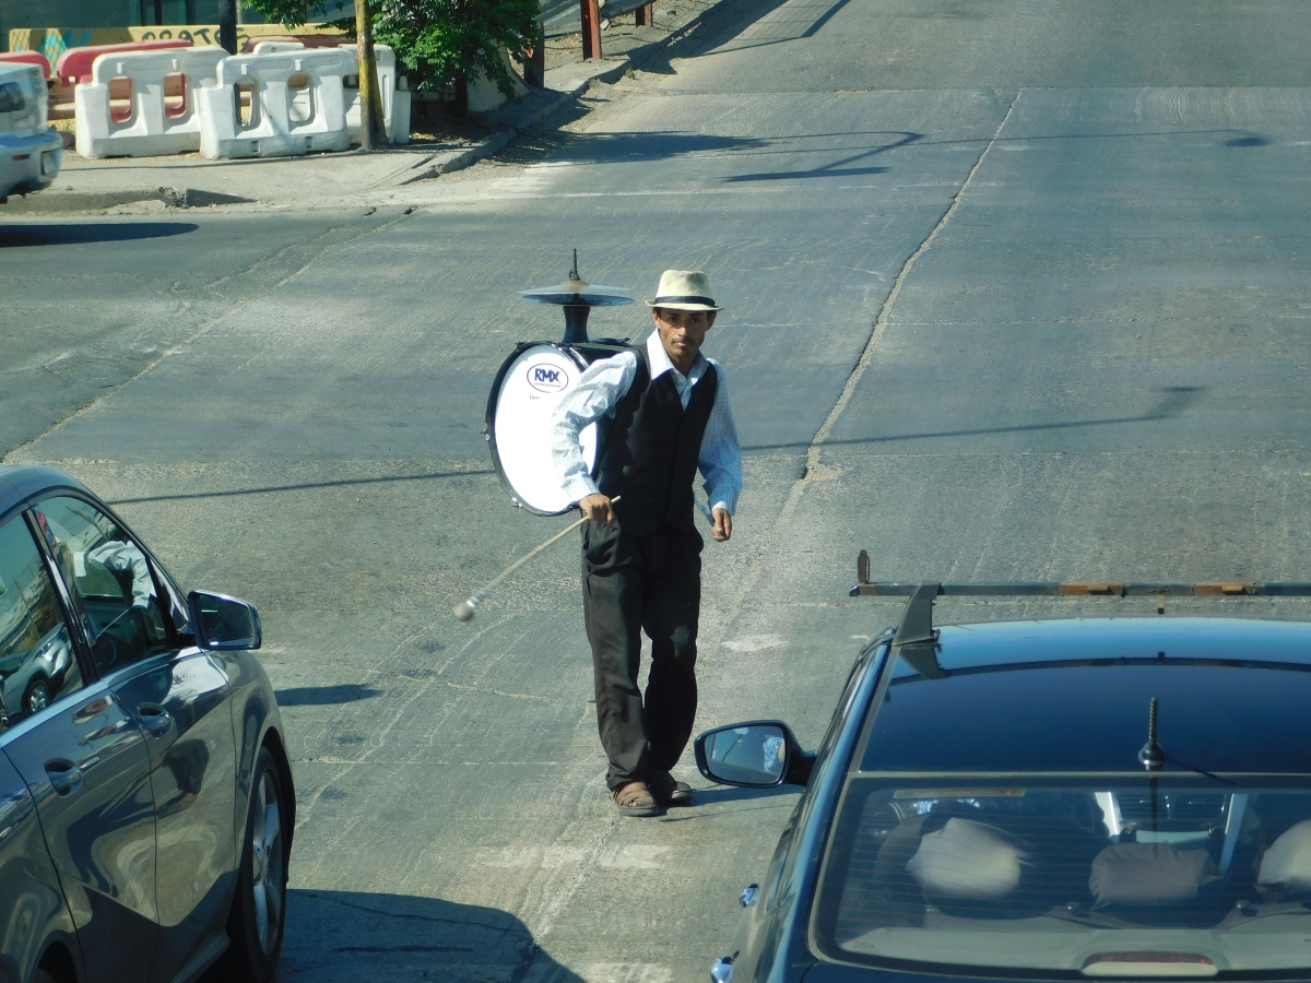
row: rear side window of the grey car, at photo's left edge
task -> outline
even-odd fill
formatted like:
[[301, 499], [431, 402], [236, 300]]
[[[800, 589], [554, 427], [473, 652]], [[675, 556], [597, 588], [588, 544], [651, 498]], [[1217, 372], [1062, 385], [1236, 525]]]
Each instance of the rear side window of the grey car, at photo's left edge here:
[[80, 689], [55, 585], [22, 515], [0, 526], [0, 700], [10, 723]]

